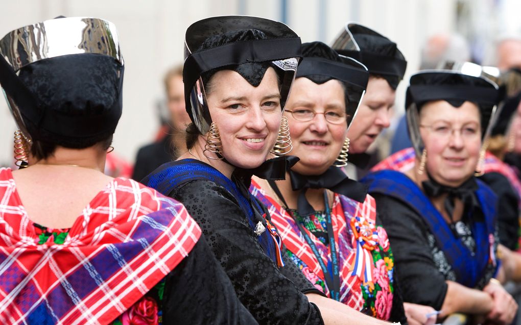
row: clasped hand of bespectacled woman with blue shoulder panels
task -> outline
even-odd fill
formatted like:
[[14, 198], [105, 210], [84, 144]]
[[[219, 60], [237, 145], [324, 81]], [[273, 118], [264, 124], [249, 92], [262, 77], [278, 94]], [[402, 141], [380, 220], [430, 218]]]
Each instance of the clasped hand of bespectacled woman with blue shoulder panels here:
[[500, 283], [490, 281], [483, 292], [490, 294], [494, 302], [487, 319], [497, 324], [510, 324], [517, 312], [517, 303]]

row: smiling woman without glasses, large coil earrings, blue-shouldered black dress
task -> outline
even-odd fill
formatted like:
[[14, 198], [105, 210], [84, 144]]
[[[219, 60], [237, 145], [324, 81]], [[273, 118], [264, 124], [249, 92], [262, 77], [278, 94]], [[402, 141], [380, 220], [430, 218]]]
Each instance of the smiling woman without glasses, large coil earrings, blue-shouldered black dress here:
[[[265, 160], [270, 151], [290, 148], [281, 119], [301, 57], [300, 38], [279, 22], [227, 16], [192, 24], [186, 47], [190, 150], [145, 183], [187, 206], [259, 323], [370, 324], [371, 318], [344, 305], [329, 309], [330, 300], [286, 261], [269, 213], [248, 191], [252, 175], [281, 179], [294, 163]], [[324, 307], [308, 298], [325, 301]]]

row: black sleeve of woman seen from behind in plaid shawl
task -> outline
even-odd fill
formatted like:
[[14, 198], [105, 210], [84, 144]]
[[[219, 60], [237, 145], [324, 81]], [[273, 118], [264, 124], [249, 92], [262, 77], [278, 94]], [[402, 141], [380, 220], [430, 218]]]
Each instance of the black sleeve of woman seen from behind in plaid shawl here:
[[257, 324], [204, 236], [166, 277], [163, 324]]

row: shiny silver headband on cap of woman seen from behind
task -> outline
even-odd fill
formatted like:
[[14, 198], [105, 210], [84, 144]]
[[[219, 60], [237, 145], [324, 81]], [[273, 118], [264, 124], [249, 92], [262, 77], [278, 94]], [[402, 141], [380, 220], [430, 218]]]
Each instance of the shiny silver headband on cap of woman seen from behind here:
[[43, 59], [82, 53], [107, 55], [123, 64], [116, 26], [98, 18], [56, 18], [16, 29], [0, 40], [0, 55], [15, 71]]

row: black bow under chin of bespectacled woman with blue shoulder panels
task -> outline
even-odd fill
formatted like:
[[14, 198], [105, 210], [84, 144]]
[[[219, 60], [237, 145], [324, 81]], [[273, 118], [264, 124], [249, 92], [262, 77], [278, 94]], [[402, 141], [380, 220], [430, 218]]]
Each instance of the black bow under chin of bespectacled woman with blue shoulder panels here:
[[443, 205], [451, 220], [453, 220], [454, 200], [460, 199], [466, 209], [472, 209], [474, 206], [479, 206], [474, 192], [478, 189], [475, 177], [470, 177], [458, 187], [450, 187], [439, 184], [436, 180], [429, 176], [429, 180], [421, 182], [425, 193], [431, 198], [439, 197], [441, 194], [447, 193], [447, 197]]

